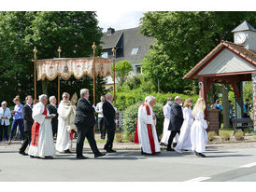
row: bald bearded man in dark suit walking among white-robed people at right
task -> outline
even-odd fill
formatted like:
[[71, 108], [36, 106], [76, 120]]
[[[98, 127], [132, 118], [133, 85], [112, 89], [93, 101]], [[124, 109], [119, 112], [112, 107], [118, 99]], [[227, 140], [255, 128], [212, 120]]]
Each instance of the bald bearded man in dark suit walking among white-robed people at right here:
[[167, 151], [174, 151], [171, 147], [173, 139], [176, 134], [180, 132], [180, 128], [183, 123], [183, 114], [182, 114], [182, 100], [179, 96], [175, 98], [175, 103], [171, 106], [171, 116], [168, 130], [171, 130], [171, 134], [167, 144]]

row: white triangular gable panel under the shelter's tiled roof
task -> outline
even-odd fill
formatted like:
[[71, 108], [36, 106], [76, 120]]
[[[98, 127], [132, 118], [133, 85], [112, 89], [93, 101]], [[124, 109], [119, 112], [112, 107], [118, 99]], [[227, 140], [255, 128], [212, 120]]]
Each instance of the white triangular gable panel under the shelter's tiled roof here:
[[225, 74], [254, 70], [256, 70], [256, 67], [253, 67], [249, 62], [225, 48], [216, 58], [209, 62], [198, 75]]

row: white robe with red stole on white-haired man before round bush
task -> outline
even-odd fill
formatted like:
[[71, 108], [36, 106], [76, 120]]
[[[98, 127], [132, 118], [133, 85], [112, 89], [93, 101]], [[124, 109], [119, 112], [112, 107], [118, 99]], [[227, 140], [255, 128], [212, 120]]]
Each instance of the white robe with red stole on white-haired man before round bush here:
[[[149, 111], [150, 115], [148, 115], [144, 104], [141, 104], [138, 108], [137, 136], [142, 151], [147, 154], [153, 154], [155, 152], [160, 152], [160, 145], [156, 133], [155, 121], [153, 119], [153, 110], [150, 105]], [[149, 129], [152, 134], [148, 131]], [[153, 147], [154, 151], [152, 151], [151, 147]]]

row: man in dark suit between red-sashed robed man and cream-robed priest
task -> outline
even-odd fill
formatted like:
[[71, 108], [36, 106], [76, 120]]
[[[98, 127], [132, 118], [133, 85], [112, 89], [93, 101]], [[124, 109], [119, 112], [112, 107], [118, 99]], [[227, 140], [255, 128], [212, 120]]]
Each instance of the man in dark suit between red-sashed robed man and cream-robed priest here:
[[55, 117], [51, 118], [52, 136], [54, 138], [58, 130], [58, 106], [56, 105], [55, 96], [50, 96], [49, 101], [50, 101], [50, 104], [48, 104], [46, 107], [49, 110], [50, 114], [56, 115]]

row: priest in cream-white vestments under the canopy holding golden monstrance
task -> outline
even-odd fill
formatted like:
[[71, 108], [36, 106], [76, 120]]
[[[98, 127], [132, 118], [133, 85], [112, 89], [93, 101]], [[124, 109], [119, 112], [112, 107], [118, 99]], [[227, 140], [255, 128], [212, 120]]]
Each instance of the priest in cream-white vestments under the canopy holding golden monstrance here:
[[61, 153], [71, 153], [73, 130], [76, 117], [76, 105], [69, 101], [70, 95], [63, 93], [63, 100], [58, 107], [58, 133], [56, 140], [56, 150]]

